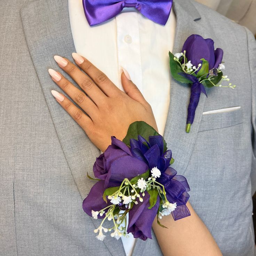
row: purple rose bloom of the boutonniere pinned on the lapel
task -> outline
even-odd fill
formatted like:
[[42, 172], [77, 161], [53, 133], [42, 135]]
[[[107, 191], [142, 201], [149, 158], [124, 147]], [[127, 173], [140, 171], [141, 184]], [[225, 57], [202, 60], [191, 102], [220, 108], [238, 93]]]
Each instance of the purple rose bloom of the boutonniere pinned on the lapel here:
[[193, 34], [185, 41], [182, 52], [186, 51], [187, 61], [191, 61], [194, 66], [202, 64], [204, 58], [209, 62], [209, 70], [217, 68], [222, 62], [223, 50], [214, 50], [214, 41], [210, 38], [203, 39], [201, 35]]

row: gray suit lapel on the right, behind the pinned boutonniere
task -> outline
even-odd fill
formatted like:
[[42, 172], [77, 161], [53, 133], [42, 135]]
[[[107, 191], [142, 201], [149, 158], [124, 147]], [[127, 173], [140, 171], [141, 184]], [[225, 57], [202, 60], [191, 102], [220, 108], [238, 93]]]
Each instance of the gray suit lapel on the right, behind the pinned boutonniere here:
[[[200, 14], [191, 1], [176, 0], [173, 3], [176, 14], [176, 35], [173, 53], [180, 53], [185, 40], [191, 34], [207, 37], [207, 30], [200, 22]], [[209, 37], [209, 35], [208, 35]], [[190, 100], [190, 86], [171, 79], [170, 105], [164, 138], [173, 152], [173, 167], [178, 174], [184, 174], [197, 138], [206, 96], [201, 94], [190, 133], [186, 133], [187, 106]]]

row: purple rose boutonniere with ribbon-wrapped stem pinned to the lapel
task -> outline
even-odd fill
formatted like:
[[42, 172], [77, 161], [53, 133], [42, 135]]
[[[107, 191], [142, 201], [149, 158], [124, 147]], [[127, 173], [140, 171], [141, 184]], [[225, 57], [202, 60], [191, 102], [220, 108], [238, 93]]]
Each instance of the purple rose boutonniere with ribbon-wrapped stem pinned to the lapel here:
[[229, 83], [223, 86], [221, 81], [229, 81], [227, 75], [223, 75], [222, 64], [223, 50], [214, 50], [214, 41], [210, 38], [203, 39], [200, 35], [191, 35], [185, 41], [182, 52], [172, 54], [169, 51], [170, 70], [174, 79], [182, 83], [191, 84], [191, 96], [187, 113], [186, 132], [189, 133], [194, 121], [201, 93], [206, 96], [205, 87], [229, 87], [235, 85]]

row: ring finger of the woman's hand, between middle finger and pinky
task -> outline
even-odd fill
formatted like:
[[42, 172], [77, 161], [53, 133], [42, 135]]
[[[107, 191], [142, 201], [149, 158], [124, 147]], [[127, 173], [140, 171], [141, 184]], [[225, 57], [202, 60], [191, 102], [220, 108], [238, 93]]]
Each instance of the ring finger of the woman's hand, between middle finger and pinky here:
[[61, 73], [53, 69], [49, 69], [53, 81], [69, 95], [75, 103], [77, 103], [90, 117], [97, 113], [98, 107], [83, 91], [75, 87], [69, 80], [67, 80]]

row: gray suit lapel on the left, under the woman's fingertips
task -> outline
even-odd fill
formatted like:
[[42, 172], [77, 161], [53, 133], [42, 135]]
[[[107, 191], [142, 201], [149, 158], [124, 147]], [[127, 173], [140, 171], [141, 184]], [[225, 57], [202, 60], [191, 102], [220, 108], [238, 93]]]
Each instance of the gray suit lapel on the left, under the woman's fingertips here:
[[27, 45], [51, 118], [75, 183], [84, 199], [94, 184], [86, 177], [86, 173], [88, 171], [93, 177], [92, 166], [99, 150], [51, 95], [52, 89], [60, 89], [47, 71], [53, 68], [63, 73], [55, 63], [54, 55], [73, 59], [71, 54], [75, 52], [75, 47], [69, 22], [68, 2], [35, 1], [21, 10], [21, 17]]

